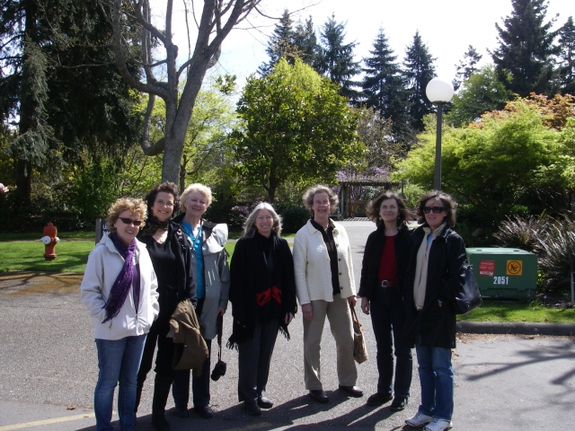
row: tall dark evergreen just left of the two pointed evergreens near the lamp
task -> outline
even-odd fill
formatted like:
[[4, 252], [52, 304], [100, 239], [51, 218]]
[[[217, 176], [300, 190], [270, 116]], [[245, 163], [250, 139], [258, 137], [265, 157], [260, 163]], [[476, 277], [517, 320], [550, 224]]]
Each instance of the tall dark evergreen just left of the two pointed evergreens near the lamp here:
[[315, 69], [341, 85], [340, 94], [351, 100], [358, 99], [359, 92], [352, 87], [358, 83], [352, 81], [359, 73], [359, 63], [353, 59], [353, 49], [356, 42], [343, 43], [345, 39], [345, 24], [336, 22], [335, 15], [329, 18], [320, 31], [320, 52]]

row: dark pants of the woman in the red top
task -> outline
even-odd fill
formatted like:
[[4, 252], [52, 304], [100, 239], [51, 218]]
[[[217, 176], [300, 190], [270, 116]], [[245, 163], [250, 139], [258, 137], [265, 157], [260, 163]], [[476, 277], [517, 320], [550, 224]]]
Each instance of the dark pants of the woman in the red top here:
[[[374, 328], [377, 345], [377, 391], [392, 393], [394, 377], [394, 347], [396, 397], [409, 398], [413, 360], [411, 348], [402, 342], [405, 326], [405, 305], [398, 287], [376, 286], [369, 301], [371, 323]], [[393, 333], [393, 339], [392, 339]]]

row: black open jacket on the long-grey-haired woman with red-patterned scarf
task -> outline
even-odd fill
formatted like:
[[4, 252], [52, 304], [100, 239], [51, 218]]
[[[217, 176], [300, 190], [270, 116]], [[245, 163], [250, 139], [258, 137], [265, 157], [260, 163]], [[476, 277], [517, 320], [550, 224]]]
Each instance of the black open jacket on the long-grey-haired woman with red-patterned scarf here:
[[[252, 337], [253, 329], [258, 323], [258, 307], [256, 294], [269, 286], [268, 267], [263, 259], [261, 242], [254, 237], [255, 230], [243, 236], [235, 244], [234, 254], [230, 263], [230, 302], [234, 316], [234, 333], [228, 346], [234, 347], [236, 343]], [[274, 249], [277, 250], [275, 278], [277, 287], [281, 291], [280, 313], [273, 316], [279, 320], [279, 327], [288, 335], [288, 327], [284, 318], [288, 312], [296, 313], [296, 278], [294, 276], [294, 259], [286, 240], [273, 234]], [[238, 325], [237, 322], [241, 325]]]

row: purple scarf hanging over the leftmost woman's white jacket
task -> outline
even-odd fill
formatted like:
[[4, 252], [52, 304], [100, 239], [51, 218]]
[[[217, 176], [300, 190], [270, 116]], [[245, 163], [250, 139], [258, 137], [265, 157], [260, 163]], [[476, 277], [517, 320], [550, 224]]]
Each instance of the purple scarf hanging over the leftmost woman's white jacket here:
[[116, 250], [124, 258], [124, 266], [119, 271], [119, 275], [111, 286], [110, 297], [104, 307], [106, 309], [106, 319], [102, 321], [111, 321], [119, 313], [119, 309], [126, 302], [128, 297], [129, 288], [132, 286], [132, 278], [134, 277], [134, 251], [136, 251], [136, 240], [132, 240], [129, 245], [122, 242], [117, 233], [110, 234], [111, 242], [114, 243]]

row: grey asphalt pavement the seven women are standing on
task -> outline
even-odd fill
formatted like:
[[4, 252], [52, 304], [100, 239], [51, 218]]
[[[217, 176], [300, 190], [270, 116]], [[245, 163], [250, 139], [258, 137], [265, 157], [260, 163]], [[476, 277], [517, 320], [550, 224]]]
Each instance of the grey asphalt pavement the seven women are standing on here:
[[[354, 272], [359, 280], [363, 246], [375, 225], [344, 222], [352, 244]], [[0, 275], [0, 431], [95, 430], [93, 388], [97, 356], [92, 322], [80, 303], [81, 277], [37, 273]], [[303, 325], [298, 313], [290, 325], [291, 339], [279, 335], [272, 357], [268, 395], [273, 409], [261, 417], [248, 416], [237, 402], [237, 353], [224, 349], [228, 368], [211, 384], [212, 419], [168, 417], [173, 431], [248, 430], [398, 430], [418, 408], [420, 387], [414, 357], [411, 399], [407, 409], [392, 412], [366, 406], [376, 391], [376, 346], [369, 317], [359, 313], [366, 330], [366, 363], [358, 365], [358, 386], [365, 395], [353, 399], [337, 390], [335, 345], [326, 323], [322, 343], [322, 381], [330, 403], [318, 404], [305, 391], [303, 379]], [[561, 325], [560, 325], [561, 326]], [[572, 325], [561, 331], [575, 333]], [[575, 420], [575, 338], [548, 337], [551, 326], [520, 325], [502, 334], [459, 336], [454, 350], [456, 371], [455, 430], [571, 429]], [[535, 330], [537, 329], [537, 330]], [[464, 329], [465, 332], [473, 330]], [[477, 328], [475, 328], [477, 330]], [[530, 335], [508, 335], [512, 331]], [[224, 338], [231, 331], [226, 313]], [[494, 330], [489, 330], [494, 331]], [[215, 345], [214, 345], [215, 346]], [[414, 355], [415, 356], [415, 355]], [[213, 361], [214, 362], [214, 361]], [[154, 375], [146, 381], [139, 429], [150, 426]], [[190, 406], [191, 407], [191, 406]], [[168, 408], [173, 408], [169, 401]]]

